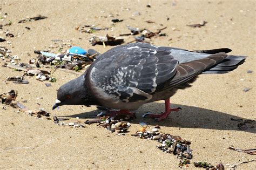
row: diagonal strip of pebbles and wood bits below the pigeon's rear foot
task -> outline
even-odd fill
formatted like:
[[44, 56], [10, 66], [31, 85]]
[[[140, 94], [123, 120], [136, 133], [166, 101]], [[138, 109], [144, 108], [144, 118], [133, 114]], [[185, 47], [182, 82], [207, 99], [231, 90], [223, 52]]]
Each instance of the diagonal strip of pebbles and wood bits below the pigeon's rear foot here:
[[142, 127], [139, 130], [132, 134], [135, 137], [148, 140], [157, 140], [161, 145], [158, 145], [157, 148], [166, 153], [172, 153], [177, 155], [179, 159], [186, 158], [192, 159], [193, 155], [190, 149], [191, 141], [181, 139], [179, 136], [173, 136], [169, 133], [159, 133], [158, 131], [147, 131], [148, 127], [145, 123], [140, 123]]

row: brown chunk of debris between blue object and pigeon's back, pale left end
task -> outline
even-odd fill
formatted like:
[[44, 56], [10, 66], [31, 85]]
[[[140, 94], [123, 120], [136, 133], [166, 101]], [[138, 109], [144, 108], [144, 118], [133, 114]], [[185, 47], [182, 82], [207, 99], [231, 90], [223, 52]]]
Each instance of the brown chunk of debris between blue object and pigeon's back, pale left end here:
[[91, 45], [119, 45], [124, 43], [124, 38], [112, 37], [107, 34], [105, 37], [93, 36], [89, 41]]

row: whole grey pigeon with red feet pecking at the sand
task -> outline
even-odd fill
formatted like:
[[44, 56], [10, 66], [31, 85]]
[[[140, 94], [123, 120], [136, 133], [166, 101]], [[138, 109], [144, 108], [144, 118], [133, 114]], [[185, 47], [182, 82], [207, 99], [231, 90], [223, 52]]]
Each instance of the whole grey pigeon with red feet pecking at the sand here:
[[99, 55], [82, 76], [61, 86], [53, 110], [61, 105], [96, 105], [131, 111], [165, 100], [165, 112], [145, 116], [164, 120], [171, 111], [170, 97], [191, 87], [199, 74], [221, 74], [244, 63], [245, 56], [227, 55], [230, 49], [188, 51], [174, 47], [131, 43]]

